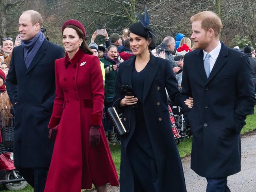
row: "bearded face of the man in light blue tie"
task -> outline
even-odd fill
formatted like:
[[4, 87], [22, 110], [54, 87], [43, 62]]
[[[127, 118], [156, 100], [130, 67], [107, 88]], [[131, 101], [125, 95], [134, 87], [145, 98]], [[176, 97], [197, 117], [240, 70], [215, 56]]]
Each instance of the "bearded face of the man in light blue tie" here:
[[195, 49], [205, 50], [210, 45], [209, 31], [202, 29], [201, 21], [194, 21], [192, 23], [192, 35], [190, 39], [194, 42]]

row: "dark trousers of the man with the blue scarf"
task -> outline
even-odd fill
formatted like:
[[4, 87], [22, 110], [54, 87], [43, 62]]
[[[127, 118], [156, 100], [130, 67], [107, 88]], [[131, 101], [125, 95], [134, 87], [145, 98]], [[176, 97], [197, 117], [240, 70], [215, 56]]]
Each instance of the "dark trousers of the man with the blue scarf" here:
[[17, 167], [22, 177], [34, 188], [34, 192], [44, 192], [48, 168]]

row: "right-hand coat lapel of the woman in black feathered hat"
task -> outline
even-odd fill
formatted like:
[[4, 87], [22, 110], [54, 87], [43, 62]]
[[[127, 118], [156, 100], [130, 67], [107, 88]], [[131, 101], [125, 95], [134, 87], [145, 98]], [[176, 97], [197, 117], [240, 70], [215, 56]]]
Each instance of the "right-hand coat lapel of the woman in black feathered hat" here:
[[150, 60], [147, 65], [149, 66], [148, 66], [145, 81], [144, 81], [143, 102], [145, 101], [145, 98], [148, 95], [148, 91], [152, 85], [152, 82], [156, 76], [156, 73], [158, 72], [158, 68], [160, 64], [158, 63], [156, 57], [150, 54]]

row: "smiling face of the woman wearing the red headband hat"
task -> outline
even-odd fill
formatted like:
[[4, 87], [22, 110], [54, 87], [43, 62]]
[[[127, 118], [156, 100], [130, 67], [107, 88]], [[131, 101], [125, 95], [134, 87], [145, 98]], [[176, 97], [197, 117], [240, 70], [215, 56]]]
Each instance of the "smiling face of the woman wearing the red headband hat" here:
[[68, 53], [76, 53], [79, 50], [79, 44], [82, 44], [82, 38], [79, 38], [76, 30], [65, 28], [63, 31], [63, 47]]

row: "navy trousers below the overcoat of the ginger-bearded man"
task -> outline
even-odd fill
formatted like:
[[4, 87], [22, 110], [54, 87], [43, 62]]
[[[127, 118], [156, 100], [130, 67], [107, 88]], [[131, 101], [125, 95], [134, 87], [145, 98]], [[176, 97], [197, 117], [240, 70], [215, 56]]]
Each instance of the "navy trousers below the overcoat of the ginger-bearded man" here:
[[230, 192], [227, 177], [206, 178], [206, 192]]

